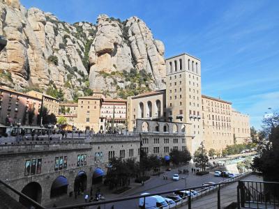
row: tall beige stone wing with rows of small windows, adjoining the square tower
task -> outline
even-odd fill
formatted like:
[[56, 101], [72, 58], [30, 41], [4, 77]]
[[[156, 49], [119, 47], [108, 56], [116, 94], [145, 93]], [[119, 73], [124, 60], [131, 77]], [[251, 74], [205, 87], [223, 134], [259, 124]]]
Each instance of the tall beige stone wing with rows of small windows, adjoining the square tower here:
[[202, 123], [204, 146], [223, 150], [234, 144], [232, 134], [232, 103], [202, 95]]

